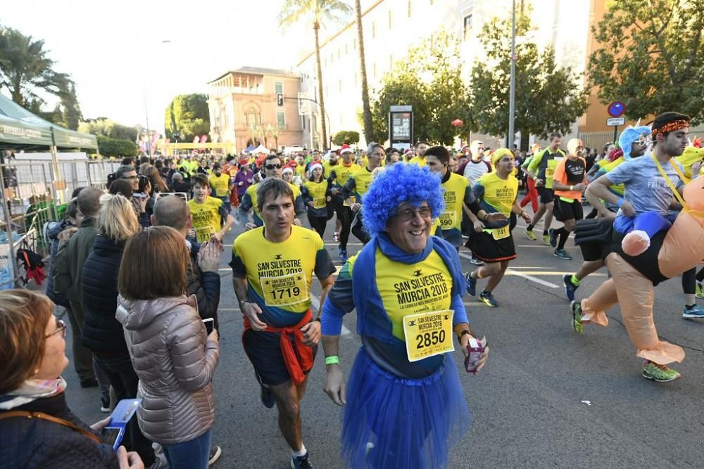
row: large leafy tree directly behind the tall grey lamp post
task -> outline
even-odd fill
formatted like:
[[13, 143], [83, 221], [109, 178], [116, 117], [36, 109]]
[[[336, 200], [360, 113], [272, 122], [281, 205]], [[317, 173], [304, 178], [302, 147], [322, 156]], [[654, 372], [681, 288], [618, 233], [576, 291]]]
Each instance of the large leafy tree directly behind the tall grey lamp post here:
[[[555, 65], [549, 47], [538, 46], [525, 37], [532, 23], [527, 13], [516, 12], [516, 108], [515, 129], [524, 137], [546, 138], [553, 131], [567, 133], [587, 108], [586, 93], [577, 76]], [[494, 18], [482, 27], [481, 39], [486, 61], [472, 68], [467, 106], [469, 127], [486, 134], [508, 133], [511, 19]], [[465, 121], [465, 125], [467, 121]]]

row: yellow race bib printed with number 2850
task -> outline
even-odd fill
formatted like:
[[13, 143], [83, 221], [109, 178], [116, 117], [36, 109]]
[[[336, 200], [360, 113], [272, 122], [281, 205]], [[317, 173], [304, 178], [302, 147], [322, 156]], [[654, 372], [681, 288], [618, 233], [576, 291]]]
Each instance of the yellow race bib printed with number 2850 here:
[[453, 314], [454, 311], [447, 309], [403, 316], [408, 361], [427, 359], [455, 349], [452, 341]]

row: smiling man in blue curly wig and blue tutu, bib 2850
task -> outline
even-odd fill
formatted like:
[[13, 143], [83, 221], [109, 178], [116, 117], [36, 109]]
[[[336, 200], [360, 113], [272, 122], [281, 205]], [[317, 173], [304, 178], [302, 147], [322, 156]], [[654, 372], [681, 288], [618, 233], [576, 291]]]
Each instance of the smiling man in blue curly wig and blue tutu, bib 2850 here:
[[[451, 444], [469, 428], [449, 352], [456, 338], [467, 365], [479, 371], [489, 349], [469, 361], [474, 334], [460, 259], [450, 243], [430, 236], [443, 210], [440, 178], [427, 167], [391, 165], [379, 173], [362, 212], [370, 242], [348, 259], [325, 300], [325, 392], [345, 406], [341, 446], [349, 467], [446, 467]], [[339, 335], [353, 309], [362, 347], [345, 387]]]

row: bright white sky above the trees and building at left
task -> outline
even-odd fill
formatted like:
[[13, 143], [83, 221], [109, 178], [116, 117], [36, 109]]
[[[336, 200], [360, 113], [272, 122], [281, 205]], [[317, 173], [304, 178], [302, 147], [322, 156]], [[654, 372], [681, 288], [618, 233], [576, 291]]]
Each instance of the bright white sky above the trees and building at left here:
[[149, 126], [163, 129], [177, 94], [207, 93], [207, 82], [245, 65], [290, 69], [312, 50], [307, 27], [278, 27], [282, 3], [3, 1], [0, 25], [44, 40], [55, 70], [75, 81], [84, 117], [144, 125], [146, 95]]

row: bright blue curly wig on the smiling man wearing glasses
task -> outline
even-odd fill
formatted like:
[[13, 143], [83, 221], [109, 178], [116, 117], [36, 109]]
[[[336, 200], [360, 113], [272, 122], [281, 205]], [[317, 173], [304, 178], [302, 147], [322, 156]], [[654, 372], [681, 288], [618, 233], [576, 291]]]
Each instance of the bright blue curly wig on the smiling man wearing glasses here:
[[407, 163], [387, 166], [377, 174], [362, 201], [362, 221], [370, 236], [386, 231], [389, 218], [396, 214], [402, 203], [420, 205], [427, 202], [433, 219], [445, 209], [440, 175], [427, 167]]

